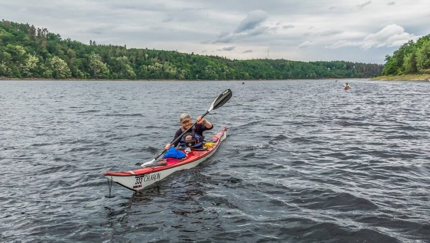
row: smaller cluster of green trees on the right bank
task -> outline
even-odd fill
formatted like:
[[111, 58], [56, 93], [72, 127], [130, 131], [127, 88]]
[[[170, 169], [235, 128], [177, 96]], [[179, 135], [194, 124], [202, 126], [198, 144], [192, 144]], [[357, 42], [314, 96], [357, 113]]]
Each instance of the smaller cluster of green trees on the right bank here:
[[430, 74], [430, 35], [409, 40], [385, 60], [383, 75]]

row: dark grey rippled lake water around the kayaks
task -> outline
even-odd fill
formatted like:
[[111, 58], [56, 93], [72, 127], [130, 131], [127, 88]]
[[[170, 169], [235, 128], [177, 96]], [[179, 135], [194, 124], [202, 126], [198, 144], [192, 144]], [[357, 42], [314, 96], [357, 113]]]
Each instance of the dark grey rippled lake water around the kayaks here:
[[[227, 88], [214, 156], [105, 198]], [[0, 242], [430, 242], [429, 106], [430, 82], [0, 81]]]

